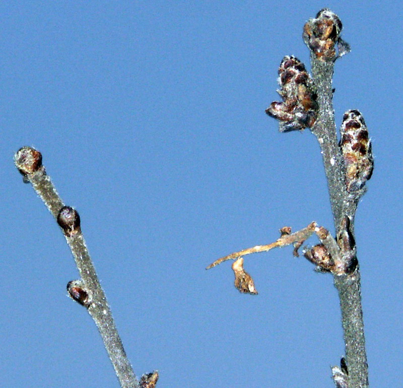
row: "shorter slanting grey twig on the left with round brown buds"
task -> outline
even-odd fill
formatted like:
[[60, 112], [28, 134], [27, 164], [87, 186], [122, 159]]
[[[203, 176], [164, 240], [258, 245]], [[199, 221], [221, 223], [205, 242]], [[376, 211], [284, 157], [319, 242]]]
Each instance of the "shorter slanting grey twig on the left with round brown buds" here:
[[[78, 212], [70, 206], [64, 206], [50, 177], [46, 175], [39, 151], [22, 147], [15, 155], [15, 164], [23, 174], [24, 181], [32, 184], [57, 220], [73, 253], [81, 279], [68, 283], [70, 296], [86, 307], [97, 325], [120, 385], [124, 388], [139, 388], [139, 381], [123, 349], [105, 293], [88, 253]], [[158, 374], [156, 378], [158, 379]]]

